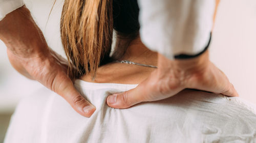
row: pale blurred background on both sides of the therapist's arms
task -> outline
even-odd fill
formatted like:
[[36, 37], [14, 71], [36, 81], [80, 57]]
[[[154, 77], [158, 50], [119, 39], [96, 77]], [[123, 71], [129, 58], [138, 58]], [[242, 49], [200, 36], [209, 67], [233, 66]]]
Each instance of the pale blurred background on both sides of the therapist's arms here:
[[[24, 0], [48, 45], [65, 57], [59, 23], [63, 0]], [[49, 21], [47, 22], [49, 17]], [[241, 98], [256, 104], [256, 1], [221, 0], [210, 44], [210, 59], [234, 84]], [[6, 47], [0, 41], [0, 142], [15, 106], [23, 97], [44, 88], [26, 79], [9, 64]]]

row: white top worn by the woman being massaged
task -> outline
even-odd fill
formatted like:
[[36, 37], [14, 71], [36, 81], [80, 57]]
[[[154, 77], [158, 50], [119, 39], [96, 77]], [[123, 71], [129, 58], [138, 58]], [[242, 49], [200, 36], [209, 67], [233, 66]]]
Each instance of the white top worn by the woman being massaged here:
[[106, 105], [106, 97], [136, 84], [76, 80], [75, 86], [96, 106], [91, 118], [43, 89], [19, 103], [5, 143], [256, 142], [256, 108], [239, 97], [185, 90], [165, 100], [114, 109]]

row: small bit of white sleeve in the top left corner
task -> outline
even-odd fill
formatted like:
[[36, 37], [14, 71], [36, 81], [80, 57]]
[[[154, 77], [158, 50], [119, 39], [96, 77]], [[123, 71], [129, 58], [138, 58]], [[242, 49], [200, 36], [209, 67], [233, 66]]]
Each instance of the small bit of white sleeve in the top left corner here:
[[23, 5], [23, 0], [0, 0], [0, 20], [2, 20], [8, 13]]

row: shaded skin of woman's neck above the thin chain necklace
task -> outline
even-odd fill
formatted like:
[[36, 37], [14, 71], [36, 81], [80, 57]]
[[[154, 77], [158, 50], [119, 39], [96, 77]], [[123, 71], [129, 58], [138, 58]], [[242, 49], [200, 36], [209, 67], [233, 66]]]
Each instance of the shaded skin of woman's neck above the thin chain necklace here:
[[135, 63], [157, 66], [157, 52], [148, 49], [140, 40], [134, 39], [127, 47], [122, 58], [118, 60], [127, 60]]

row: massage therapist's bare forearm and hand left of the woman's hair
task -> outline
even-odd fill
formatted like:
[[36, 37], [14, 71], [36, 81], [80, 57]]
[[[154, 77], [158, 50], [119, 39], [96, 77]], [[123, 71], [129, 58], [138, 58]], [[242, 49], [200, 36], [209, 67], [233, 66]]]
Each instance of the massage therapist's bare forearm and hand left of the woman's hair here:
[[92, 115], [95, 107], [76, 91], [66, 73], [66, 60], [48, 47], [25, 6], [0, 21], [0, 39], [6, 44], [9, 60], [19, 73], [38, 80], [65, 98], [80, 115]]

